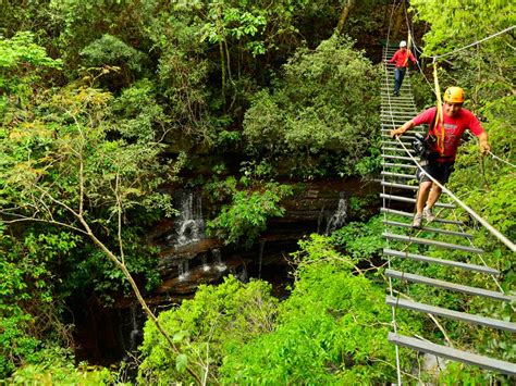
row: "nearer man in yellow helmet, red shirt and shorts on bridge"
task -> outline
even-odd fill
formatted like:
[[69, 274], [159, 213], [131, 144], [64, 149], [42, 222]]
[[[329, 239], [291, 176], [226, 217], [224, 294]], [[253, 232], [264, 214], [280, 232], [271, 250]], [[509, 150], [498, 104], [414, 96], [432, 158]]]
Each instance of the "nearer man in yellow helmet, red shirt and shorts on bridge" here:
[[[442, 127], [431, 127], [429, 135], [437, 138], [430, 150], [434, 157], [421, 161], [421, 166], [441, 185], [447, 183], [450, 174], [453, 172], [453, 164], [457, 154], [460, 137], [466, 129], [475, 134], [480, 144], [480, 152], [486, 154], [491, 150], [488, 141], [488, 134], [480, 122], [469, 110], [463, 109], [464, 90], [460, 87], [450, 87], [444, 91], [443, 123]], [[391, 130], [391, 136], [401, 136], [406, 130], [420, 124], [431, 125], [437, 114], [437, 108], [431, 108], [415, 119], [404, 123], [401, 127]], [[435, 125], [440, 126], [440, 125]], [[444, 130], [444, 136], [442, 136]], [[422, 219], [431, 222], [435, 219], [432, 214], [433, 204], [441, 196], [442, 189], [425, 174], [418, 171], [419, 192], [416, 199], [416, 215], [413, 227], [420, 228]]]

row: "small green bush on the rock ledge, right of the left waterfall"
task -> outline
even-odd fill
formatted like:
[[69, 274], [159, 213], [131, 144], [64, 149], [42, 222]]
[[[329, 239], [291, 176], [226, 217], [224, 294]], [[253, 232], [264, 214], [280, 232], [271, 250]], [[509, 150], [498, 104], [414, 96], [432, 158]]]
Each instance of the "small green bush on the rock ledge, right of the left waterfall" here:
[[233, 189], [232, 202], [208, 222], [208, 233], [224, 240], [225, 245], [241, 242], [250, 247], [267, 228], [267, 220], [285, 212], [280, 201], [293, 194], [288, 185], [268, 183], [260, 190]]

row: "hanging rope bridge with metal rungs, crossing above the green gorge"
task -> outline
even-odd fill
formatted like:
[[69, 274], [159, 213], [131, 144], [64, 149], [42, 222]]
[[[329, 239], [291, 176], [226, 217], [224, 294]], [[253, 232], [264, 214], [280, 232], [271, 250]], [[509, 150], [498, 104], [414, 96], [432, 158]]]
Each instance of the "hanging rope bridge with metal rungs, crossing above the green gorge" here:
[[[395, 49], [385, 46], [383, 49], [383, 60], [392, 58]], [[491, 233], [496, 233], [483, 219], [475, 213], [470, 208], [457, 199], [450, 190], [443, 187], [443, 194], [440, 201], [434, 206], [438, 210], [437, 219], [425, 224], [420, 229], [411, 228], [414, 213], [398, 210], [407, 204], [416, 203], [418, 183], [416, 180], [416, 171], [419, 167], [419, 159], [411, 150], [410, 142], [416, 133], [426, 134], [422, 126], [417, 126], [407, 132], [401, 138], [391, 138], [389, 132], [401, 126], [406, 121], [417, 115], [416, 104], [411, 94], [411, 85], [408, 71], [405, 76], [400, 96], [393, 95], [393, 72], [394, 65], [384, 64], [384, 79], [381, 88], [381, 134], [382, 134], [382, 198], [383, 223], [385, 232], [383, 237], [386, 239], [386, 248], [383, 254], [388, 260], [389, 269], [385, 275], [389, 279], [390, 295], [386, 296], [386, 303], [392, 308], [393, 332], [389, 334], [389, 341], [395, 345], [396, 364], [398, 370], [398, 383], [401, 383], [401, 365], [398, 357], [398, 347], [409, 348], [419, 352], [444, 358], [481, 369], [500, 372], [509, 376], [516, 376], [516, 364], [495, 358], [478, 354], [476, 352], [464, 351], [453, 347], [446, 332], [442, 328], [438, 317], [454, 320], [494, 328], [508, 334], [516, 333], [516, 323], [501, 319], [488, 317], [468, 312], [451, 310], [439, 304], [428, 304], [425, 301], [414, 300], [414, 295], [422, 291], [426, 295], [433, 295], [441, 290], [460, 294], [463, 300], [468, 302], [472, 297], [481, 297], [494, 300], [496, 302], [507, 302], [513, 310], [515, 296], [507, 295], [500, 286], [496, 276], [500, 272], [493, 267], [487, 266], [482, 259], [482, 250], [475, 247], [472, 235], [464, 231], [465, 224], [457, 220], [442, 219], [443, 213], [454, 210], [457, 206], [465, 209], [474, 219], [487, 227]], [[393, 194], [393, 191], [395, 194]], [[445, 202], [444, 202], [444, 200]], [[447, 216], [449, 217], [449, 216]], [[491, 231], [492, 228], [492, 231]], [[400, 229], [402, 229], [400, 232]], [[441, 235], [441, 237], [439, 237]], [[444, 236], [444, 240], [443, 237]], [[495, 234], [509, 250], [514, 253], [514, 244], [503, 235]], [[391, 247], [391, 245], [393, 247]], [[474, 262], [479, 262], [474, 264]], [[420, 264], [420, 265], [419, 265]], [[398, 267], [395, 270], [393, 266]], [[487, 289], [455, 283], [441, 278], [429, 277], [420, 274], [420, 269], [427, 267], [446, 267], [459, 270], [459, 277], [471, 277], [470, 275], [486, 275], [486, 283], [493, 283], [495, 289]], [[411, 271], [411, 272], [410, 272]], [[427, 272], [432, 272], [428, 270]], [[437, 271], [437, 270], [435, 270]], [[453, 278], [457, 275], [450, 275]], [[421, 287], [422, 286], [422, 287]], [[397, 288], [397, 289], [395, 289]], [[411, 292], [410, 292], [411, 291]], [[408, 295], [407, 295], [408, 294]], [[426, 296], [428, 298], [428, 296]], [[438, 302], [438, 296], [432, 296]], [[438, 345], [425, 337], [411, 337], [401, 335], [397, 332], [395, 315], [398, 309], [420, 312], [430, 316], [441, 331], [447, 345]], [[467, 331], [467, 329], [466, 329]]]

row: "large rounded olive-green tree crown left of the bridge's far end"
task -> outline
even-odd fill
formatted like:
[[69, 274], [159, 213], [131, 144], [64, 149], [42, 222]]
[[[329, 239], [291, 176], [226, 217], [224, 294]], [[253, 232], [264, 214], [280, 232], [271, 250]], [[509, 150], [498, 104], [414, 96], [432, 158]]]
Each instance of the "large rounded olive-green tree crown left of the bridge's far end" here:
[[315, 51], [299, 49], [273, 91], [256, 95], [244, 121], [250, 153], [302, 175], [322, 173], [318, 162], [332, 153], [341, 175], [370, 171], [364, 159], [373, 155], [378, 76], [352, 47], [333, 36]]

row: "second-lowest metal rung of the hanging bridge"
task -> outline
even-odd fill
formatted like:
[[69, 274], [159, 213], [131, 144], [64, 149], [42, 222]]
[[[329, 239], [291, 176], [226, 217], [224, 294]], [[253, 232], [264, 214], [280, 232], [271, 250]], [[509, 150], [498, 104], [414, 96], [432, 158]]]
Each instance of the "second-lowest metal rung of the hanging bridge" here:
[[487, 327], [516, 333], [516, 323], [505, 322], [499, 319], [486, 317], [486, 316], [475, 315], [467, 312], [449, 310], [442, 307], [429, 306], [429, 304], [419, 303], [419, 302], [410, 301], [406, 299], [397, 299], [392, 296], [388, 296], [385, 299], [385, 302], [392, 307], [401, 307], [406, 310], [431, 313], [432, 315], [450, 317], [450, 319], [454, 319], [460, 322], [466, 322], [470, 324], [479, 324]]

